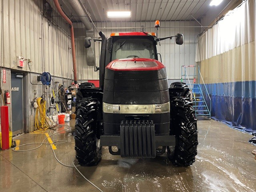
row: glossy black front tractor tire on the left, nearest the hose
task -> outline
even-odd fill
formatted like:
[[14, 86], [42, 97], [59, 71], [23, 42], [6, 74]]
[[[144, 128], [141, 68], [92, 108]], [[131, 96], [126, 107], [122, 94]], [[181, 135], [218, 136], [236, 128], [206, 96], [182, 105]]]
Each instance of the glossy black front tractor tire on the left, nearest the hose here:
[[75, 150], [78, 164], [92, 166], [100, 162], [100, 127], [97, 123], [99, 101], [92, 97], [81, 99], [75, 125]]

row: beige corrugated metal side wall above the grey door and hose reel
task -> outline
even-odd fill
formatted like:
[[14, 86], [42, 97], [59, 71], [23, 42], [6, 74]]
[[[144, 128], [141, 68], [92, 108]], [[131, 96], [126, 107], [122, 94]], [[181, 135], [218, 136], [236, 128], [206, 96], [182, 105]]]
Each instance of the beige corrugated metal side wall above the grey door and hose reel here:
[[73, 77], [70, 31], [61, 17], [53, 17], [55, 23], [43, 17], [42, 0], [4, 0], [3, 12], [3, 67], [29, 71], [27, 64], [17, 67], [16, 57], [23, 56], [33, 61], [31, 72]]

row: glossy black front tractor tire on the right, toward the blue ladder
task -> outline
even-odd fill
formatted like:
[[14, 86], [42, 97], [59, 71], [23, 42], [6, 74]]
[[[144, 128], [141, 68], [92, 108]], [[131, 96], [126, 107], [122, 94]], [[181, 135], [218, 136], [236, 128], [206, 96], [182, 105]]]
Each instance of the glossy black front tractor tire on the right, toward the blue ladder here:
[[189, 166], [197, 155], [197, 124], [192, 102], [185, 97], [173, 97], [171, 105], [171, 135], [175, 135], [175, 148], [167, 147], [167, 156], [176, 166]]

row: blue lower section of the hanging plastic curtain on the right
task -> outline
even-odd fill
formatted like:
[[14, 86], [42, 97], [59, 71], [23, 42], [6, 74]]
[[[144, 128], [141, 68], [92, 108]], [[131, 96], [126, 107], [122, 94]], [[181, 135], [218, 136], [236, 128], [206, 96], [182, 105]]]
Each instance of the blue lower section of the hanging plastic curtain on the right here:
[[[201, 85], [202, 86], [202, 85]], [[256, 82], [206, 84], [212, 118], [246, 132], [256, 132]], [[205, 97], [209, 104], [209, 99]]]

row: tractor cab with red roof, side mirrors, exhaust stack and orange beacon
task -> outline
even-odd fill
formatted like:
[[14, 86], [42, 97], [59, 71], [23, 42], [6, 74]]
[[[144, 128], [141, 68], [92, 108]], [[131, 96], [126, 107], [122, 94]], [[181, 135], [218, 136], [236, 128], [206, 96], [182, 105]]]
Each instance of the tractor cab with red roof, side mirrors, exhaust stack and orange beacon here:
[[91, 37], [84, 39], [85, 48], [91, 46], [92, 40], [101, 41], [100, 67], [94, 67], [94, 71], [100, 70], [101, 89], [104, 87], [105, 68], [111, 61], [119, 59], [136, 60], [136, 58], [158, 60], [158, 55], [160, 55], [160, 61], [162, 62], [161, 54], [156, 49], [157, 43], [160, 44], [162, 40], [175, 37], [176, 44], [183, 44], [183, 35], [179, 33], [175, 36], [158, 38], [157, 32], [159, 27], [160, 23], [156, 21], [156, 33], [144, 31], [120, 32], [111, 33], [110, 37], [106, 38], [105, 34], [100, 31], [101, 39], [92, 39]]

